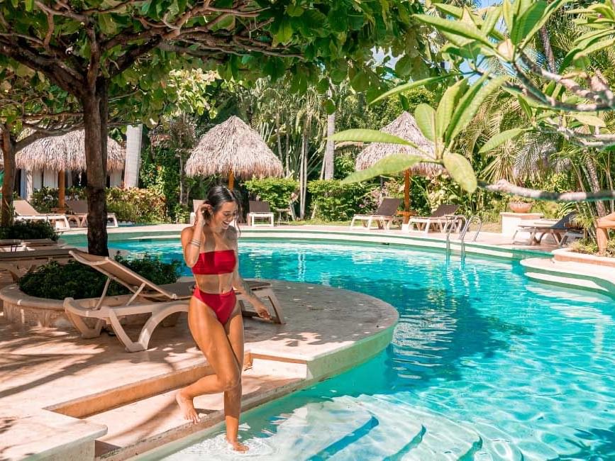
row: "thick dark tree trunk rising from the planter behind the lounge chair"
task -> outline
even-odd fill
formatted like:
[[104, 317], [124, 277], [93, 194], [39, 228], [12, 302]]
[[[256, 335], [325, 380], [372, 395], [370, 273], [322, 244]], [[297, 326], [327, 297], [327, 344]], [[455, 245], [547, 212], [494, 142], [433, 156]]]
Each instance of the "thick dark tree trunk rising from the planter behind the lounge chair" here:
[[106, 116], [105, 82], [82, 96], [87, 174], [87, 248], [93, 255], [109, 256], [106, 228]]

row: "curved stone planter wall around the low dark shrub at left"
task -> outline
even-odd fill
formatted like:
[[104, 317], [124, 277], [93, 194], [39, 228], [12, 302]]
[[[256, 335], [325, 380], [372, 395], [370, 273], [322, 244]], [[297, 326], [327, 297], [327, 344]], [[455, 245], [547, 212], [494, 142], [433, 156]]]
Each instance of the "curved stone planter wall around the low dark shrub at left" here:
[[[108, 296], [105, 299], [107, 306], [124, 304], [130, 295]], [[38, 326], [43, 328], [61, 328], [72, 330], [74, 327], [64, 311], [63, 299], [47, 299], [29, 296], [19, 289], [17, 284], [9, 285], [0, 290], [0, 299], [3, 302], [4, 318], [11, 323], [23, 326]], [[98, 298], [84, 299], [82, 304], [95, 306]], [[131, 316], [130, 324], [143, 325], [149, 314]], [[84, 318], [89, 326], [94, 326], [95, 318]], [[123, 323], [123, 322], [122, 322]]]

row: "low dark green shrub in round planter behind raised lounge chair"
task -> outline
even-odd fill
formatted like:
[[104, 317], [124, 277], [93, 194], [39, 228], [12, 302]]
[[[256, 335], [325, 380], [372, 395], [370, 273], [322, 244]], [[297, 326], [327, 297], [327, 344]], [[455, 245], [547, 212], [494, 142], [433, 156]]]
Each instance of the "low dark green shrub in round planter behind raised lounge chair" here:
[[[116, 260], [156, 284], [174, 283], [179, 277], [181, 263], [177, 260], [167, 263], [150, 255], [134, 260], [116, 256]], [[30, 296], [40, 298], [65, 299], [70, 296], [84, 299], [100, 296], [105, 282], [104, 274], [80, 262], [70, 261], [60, 265], [52, 261], [21, 277], [19, 288]], [[128, 293], [126, 287], [116, 282], [111, 282], [107, 291], [109, 296]]]

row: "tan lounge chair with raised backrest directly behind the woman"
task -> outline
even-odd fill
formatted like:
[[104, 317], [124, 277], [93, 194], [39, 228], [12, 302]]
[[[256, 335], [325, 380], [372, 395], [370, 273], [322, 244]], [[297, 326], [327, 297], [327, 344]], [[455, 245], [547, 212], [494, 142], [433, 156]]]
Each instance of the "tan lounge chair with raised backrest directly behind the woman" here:
[[[73, 250], [70, 252], [75, 260], [92, 267], [107, 277], [103, 292], [97, 300], [77, 301], [72, 298], [64, 300], [64, 309], [67, 317], [82, 338], [96, 338], [106, 323], [111, 323], [118, 340], [128, 352], [146, 350], [150, 338], [156, 326], [173, 313], [187, 312], [189, 299], [194, 290], [194, 280], [190, 282], [176, 282], [174, 284], [157, 285], [150, 280], [128, 269], [116, 260], [109, 257], [89, 255], [88, 253]], [[132, 296], [106, 296], [109, 284], [117, 282], [132, 292]], [[248, 282], [250, 283], [250, 282]], [[253, 291], [260, 298], [268, 298], [277, 316], [277, 321], [283, 323], [282, 310], [271, 284], [268, 282], [251, 282]], [[238, 295], [238, 300], [243, 301], [243, 296]], [[136, 301], [136, 302], [135, 302]], [[138, 340], [133, 341], [124, 330], [120, 319], [125, 316], [133, 316], [150, 313], [151, 316], [145, 322], [139, 333]], [[249, 312], [244, 315], [250, 316]], [[94, 318], [94, 326], [88, 326], [84, 318]]]

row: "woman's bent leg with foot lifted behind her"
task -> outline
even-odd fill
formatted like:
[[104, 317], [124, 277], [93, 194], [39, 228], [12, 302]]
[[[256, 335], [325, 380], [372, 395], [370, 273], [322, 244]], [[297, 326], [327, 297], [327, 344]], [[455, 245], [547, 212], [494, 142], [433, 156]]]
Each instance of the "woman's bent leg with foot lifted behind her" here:
[[192, 403], [194, 397], [235, 389], [241, 382], [241, 368], [229, 343], [226, 329], [218, 321], [214, 311], [194, 298], [190, 300], [188, 326], [215, 373], [202, 377], [177, 392], [177, 403], [184, 413], [184, 418], [196, 423], [199, 416]]

